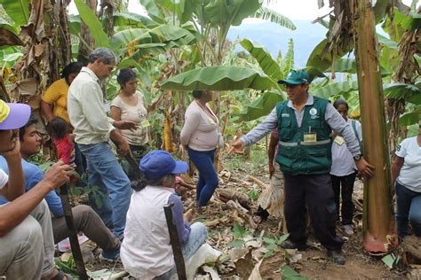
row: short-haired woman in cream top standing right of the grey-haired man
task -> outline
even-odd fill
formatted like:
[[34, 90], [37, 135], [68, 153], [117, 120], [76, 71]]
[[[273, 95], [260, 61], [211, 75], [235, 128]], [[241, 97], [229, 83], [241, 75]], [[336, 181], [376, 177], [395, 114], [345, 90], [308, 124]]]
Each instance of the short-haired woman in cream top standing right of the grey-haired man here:
[[148, 141], [147, 108], [145, 98], [138, 89], [138, 76], [131, 68], [123, 68], [117, 74], [121, 89], [111, 103], [111, 118], [115, 121], [134, 121], [136, 130], [122, 130], [123, 137], [130, 145], [135, 159], [140, 159], [146, 152]]

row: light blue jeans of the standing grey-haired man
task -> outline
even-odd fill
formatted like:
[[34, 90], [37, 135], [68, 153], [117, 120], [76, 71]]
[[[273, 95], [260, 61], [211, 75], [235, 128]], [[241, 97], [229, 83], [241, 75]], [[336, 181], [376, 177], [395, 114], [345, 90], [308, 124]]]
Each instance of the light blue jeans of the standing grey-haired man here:
[[106, 142], [79, 144], [79, 148], [88, 164], [89, 187], [96, 186], [102, 193], [100, 197], [90, 193], [91, 206], [107, 227], [114, 225], [115, 237], [123, 237], [131, 199], [129, 178]]

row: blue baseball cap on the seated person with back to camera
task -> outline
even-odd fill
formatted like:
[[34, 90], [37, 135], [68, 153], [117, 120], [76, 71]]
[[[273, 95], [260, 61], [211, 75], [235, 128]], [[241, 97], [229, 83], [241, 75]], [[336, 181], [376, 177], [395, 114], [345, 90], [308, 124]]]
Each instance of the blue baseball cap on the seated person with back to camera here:
[[187, 162], [174, 160], [170, 152], [155, 150], [140, 160], [139, 168], [147, 179], [159, 179], [169, 174], [185, 173], [188, 165]]

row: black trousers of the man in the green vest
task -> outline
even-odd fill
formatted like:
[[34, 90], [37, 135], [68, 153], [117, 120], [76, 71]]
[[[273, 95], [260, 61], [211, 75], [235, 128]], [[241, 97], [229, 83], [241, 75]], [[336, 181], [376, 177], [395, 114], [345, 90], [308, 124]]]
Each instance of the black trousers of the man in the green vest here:
[[314, 229], [314, 236], [326, 249], [340, 250], [344, 241], [337, 237], [337, 210], [330, 175], [288, 175], [285, 177], [285, 205], [290, 241], [305, 245], [306, 209]]

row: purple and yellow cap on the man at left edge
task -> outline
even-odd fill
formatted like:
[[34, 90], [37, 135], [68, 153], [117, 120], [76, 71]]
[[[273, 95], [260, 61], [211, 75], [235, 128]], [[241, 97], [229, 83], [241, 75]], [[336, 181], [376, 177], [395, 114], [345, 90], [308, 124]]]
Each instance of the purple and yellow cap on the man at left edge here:
[[31, 107], [20, 103], [5, 103], [0, 100], [0, 130], [21, 128], [27, 124]]

